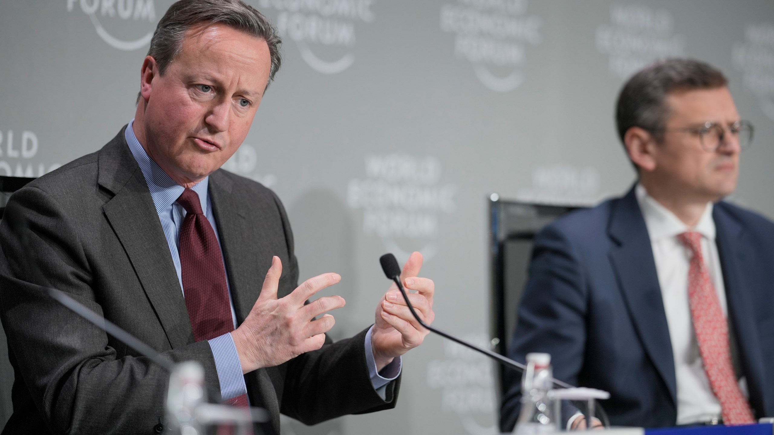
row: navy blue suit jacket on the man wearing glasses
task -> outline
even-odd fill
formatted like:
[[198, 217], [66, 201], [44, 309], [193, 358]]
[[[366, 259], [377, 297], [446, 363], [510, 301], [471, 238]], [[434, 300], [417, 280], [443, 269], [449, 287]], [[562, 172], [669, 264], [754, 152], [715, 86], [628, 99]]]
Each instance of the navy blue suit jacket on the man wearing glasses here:
[[[774, 224], [722, 201], [712, 217], [750, 404], [774, 416]], [[518, 314], [510, 358], [550, 353], [554, 377], [611, 393], [601, 405], [614, 425], [675, 425], [670, 332], [634, 189], [539, 232]], [[519, 409], [509, 378], [503, 430]]]

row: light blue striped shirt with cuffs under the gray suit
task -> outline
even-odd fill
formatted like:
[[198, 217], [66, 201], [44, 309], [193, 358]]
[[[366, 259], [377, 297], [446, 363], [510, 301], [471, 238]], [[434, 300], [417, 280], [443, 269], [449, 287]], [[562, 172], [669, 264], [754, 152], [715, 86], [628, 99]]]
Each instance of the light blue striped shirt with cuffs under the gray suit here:
[[[140, 145], [140, 142], [135, 137], [134, 131], [132, 131], [133, 123], [134, 119], [127, 125], [124, 137], [126, 143], [128, 143], [129, 150], [132, 152], [132, 156], [135, 157], [137, 164], [140, 166], [142, 175], [145, 176], [146, 183], [148, 183], [148, 189], [153, 198], [153, 204], [156, 205], [156, 212], [159, 214], [161, 228], [164, 230], [166, 243], [170, 246], [172, 262], [175, 265], [177, 279], [180, 282], [180, 290], [183, 291], [184, 295], [185, 292], [183, 289], [183, 276], [180, 272], [180, 253], [178, 252], [178, 246], [180, 243], [180, 226], [183, 224], [183, 219], [186, 217], [186, 211], [180, 204], [176, 203], [176, 200], [183, 194], [183, 190], [185, 189], [175, 183], [170, 176], [156, 164], [156, 162], [150, 159], [145, 149], [142, 148], [142, 145]], [[204, 180], [201, 180], [194, 187], [191, 187], [191, 189], [199, 195], [204, 216], [207, 217], [207, 221], [210, 221], [212, 230], [215, 232], [215, 238], [217, 238], [218, 243], [220, 243], [221, 239], [217, 234], [217, 224], [215, 224], [214, 215], [212, 214], [212, 203], [207, 192], [209, 181], [209, 176], [204, 177]], [[225, 264], [223, 267], [225, 268]], [[226, 285], [228, 286], [228, 298], [231, 303], [231, 320], [233, 320], [234, 327], [236, 328], [237, 317], [234, 311], [234, 302], [231, 300], [231, 286], [228, 283], [228, 273], [226, 274]], [[234, 399], [235, 397], [246, 394], [247, 386], [245, 385], [245, 377], [241, 373], [239, 354], [234, 344], [234, 339], [231, 338], [231, 334], [223, 334], [220, 337], [215, 337], [211, 339], [209, 343], [215, 361], [215, 368], [217, 369], [217, 378], [221, 383], [221, 399]], [[371, 346], [371, 330], [368, 330], [368, 334], [365, 334], [365, 359], [368, 364], [368, 374], [371, 376], [372, 385], [379, 393], [379, 396], [384, 398], [385, 385], [400, 375], [402, 368], [401, 358], [395, 358], [392, 363], [385, 368], [382, 368], [380, 372], [377, 372]]]

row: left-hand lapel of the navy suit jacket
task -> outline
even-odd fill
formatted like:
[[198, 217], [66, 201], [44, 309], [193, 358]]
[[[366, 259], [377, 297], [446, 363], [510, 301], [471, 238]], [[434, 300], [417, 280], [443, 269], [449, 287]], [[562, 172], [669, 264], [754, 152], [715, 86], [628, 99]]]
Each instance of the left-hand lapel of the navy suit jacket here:
[[618, 200], [614, 207], [608, 235], [615, 245], [608, 252], [608, 257], [642, 346], [663, 378], [676, 406], [672, 341], [648, 229], [634, 189]]

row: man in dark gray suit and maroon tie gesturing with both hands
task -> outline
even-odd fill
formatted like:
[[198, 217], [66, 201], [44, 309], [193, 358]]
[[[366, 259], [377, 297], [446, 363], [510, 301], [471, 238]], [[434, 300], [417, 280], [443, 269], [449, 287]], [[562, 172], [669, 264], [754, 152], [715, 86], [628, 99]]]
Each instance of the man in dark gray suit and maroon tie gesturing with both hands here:
[[[400, 356], [427, 334], [393, 286], [372, 327], [330, 343], [327, 311], [344, 300], [307, 300], [340, 277], [297, 286], [279, 198], [219, 169], [248, 133], [278, 47], [275, 29], [241, 0], [177, 2], [142, 64], [132, 122], [9, 201], [29, 221], [50, 286], [166, 358], [198, 361], [214, 399], [269, 411], [255, 427], [269, 433], [279, 433], [279, 413], [313, 424], [394, 407]], [[15, 370], [3, 433], [162, 432], [169, 374], [50, 300], [5, 223], [0, 246]], [[434, 286], [416, 277], [421, 265], [413, 254], [401, 278], [430, 322]]]

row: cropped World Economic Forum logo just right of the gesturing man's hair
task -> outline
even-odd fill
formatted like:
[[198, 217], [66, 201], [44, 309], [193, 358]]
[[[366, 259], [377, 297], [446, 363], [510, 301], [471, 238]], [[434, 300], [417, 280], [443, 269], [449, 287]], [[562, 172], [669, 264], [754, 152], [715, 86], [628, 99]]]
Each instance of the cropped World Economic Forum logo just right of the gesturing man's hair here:
[[374, 22], [374, 0], [253, 0], [262, 12], [277, 12], [280, 36], [296, 43], [301, 58], [322, 74], [338, 74], [354, 63], [355, 29]]

